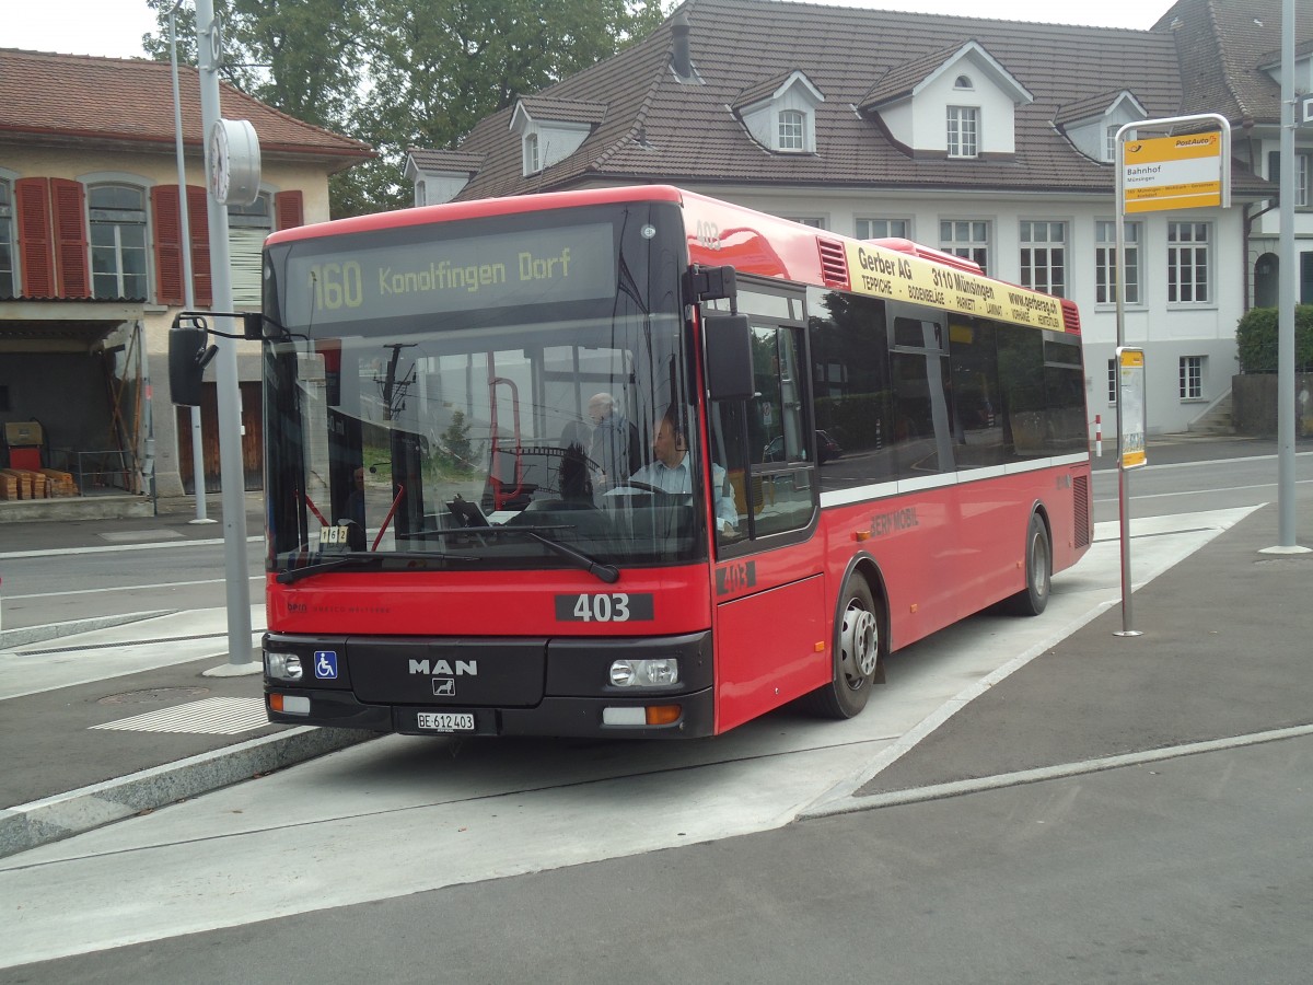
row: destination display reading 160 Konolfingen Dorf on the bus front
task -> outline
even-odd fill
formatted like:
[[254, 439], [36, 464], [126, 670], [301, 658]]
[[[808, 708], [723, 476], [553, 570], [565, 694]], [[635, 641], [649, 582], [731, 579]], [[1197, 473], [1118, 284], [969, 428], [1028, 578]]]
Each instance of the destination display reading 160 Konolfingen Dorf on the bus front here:
[[[311, 240], [312, 242], [312, 240]], [[389, 243], [288, 259], [289, 328], [398, 315], [609, 298], [616, 293], [609, 223], [420, 243]]]

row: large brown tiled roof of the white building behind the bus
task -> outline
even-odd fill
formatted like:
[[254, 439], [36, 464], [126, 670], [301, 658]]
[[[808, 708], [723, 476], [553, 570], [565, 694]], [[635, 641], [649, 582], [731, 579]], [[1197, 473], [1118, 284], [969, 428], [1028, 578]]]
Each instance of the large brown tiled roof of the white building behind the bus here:
[[[1187, 13], [1194, 17], [1196, 7], [1217, 8], [1239, 20], [1255, 7], [1275, 12], [1279, 4], [1180, 0], [1173, 9], [1191, 8]], [[1300, 0], [1300, 5], [1313, 8], [1313, 0]], [[1195, 79], [1183, 77], [1179, 67], [1179, 32], [1166, 25], [1152, 32], [1079, 28], [780, 0], [687, 0], [679, 11], [691, 25], [697, 83], [680, 81], [670, 68], [667, 20], [620, 55], [537, 93], [534, 98], [608, 106], [588, 139], [546, 171], [523, 176], [519, 138], [508, 131], [512, 110], [475, 126], [460, 150], [482, 154], [486, 163], [460, 197], [584, 181], [1111, 193], [1112, 167], [1090, 160], [1066, 141], [1054, 127], [1058, 112], [1121, 89], [1133, 92], [1152, 117], [1178, 116], [1200, 98]], [[968, 41], [989, 51], [1035, 97], [1016, 109], [1015, 155], [995, 160], [913, 156], [889, 138], [876, 114], [855, 112], [890, 72], [903, 77], [911, 64], [932, 71], [936, 58]], [[1260, 50], [1275, 46], [1268, 38]], [[1188, 64], [1187, 55], [1183, 49]], [[817, 152], [771, 154], [752, 141], [731, 106], [742, 105], [743, 93], [763, 80], [794, 70], [825, 93], [815, 109]], [[1251, 80], [1251, 87], [1262, 89], [1262, 80]], [[1266, 188], [1242, 169], [1236, 173], [1238, 189]]]

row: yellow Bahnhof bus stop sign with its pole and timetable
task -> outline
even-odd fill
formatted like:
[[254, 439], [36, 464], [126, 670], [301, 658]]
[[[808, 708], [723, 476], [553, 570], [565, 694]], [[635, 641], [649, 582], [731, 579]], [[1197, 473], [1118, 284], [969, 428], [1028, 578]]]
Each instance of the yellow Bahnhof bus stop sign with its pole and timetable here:
[[[1141, 133], [1155, 134], [1141, 138]], [[1163, 135], [1166, 134], [1166, 135]], [[1144, 349], [1127, 348], [1127, 213], [1230, 208], [1230, 123], [1220, 113], [1199, 113], [1127, 123], [1117, 143], [1117, 239], [1113, 294], [1117, 301], [1117, 508], [1121, 527], [1121, 632], [1140, 636], [1130, 609], [1130, 482], [1127, 473], [1148, 465], [1145, 453]], [[1130, 407], [1125, 401], [1133, 401]]]

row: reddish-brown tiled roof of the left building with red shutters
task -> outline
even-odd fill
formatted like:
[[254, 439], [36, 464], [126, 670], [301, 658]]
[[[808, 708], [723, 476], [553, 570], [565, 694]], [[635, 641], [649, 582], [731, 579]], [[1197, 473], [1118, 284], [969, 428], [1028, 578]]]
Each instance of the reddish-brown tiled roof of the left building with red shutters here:
[[[183, 139], [204, 143], [197, 70], [179, 66]], [[319, 158], [339, 171], [374, 156], [360, 141], [311, 126], [221, 84], [226, 118], [249, 120], [268, 156]], [[0, 139], [28, 143], [96, 141], [173, 146], [173, 81], [168, 62], [56, 55], [0, 49]]]

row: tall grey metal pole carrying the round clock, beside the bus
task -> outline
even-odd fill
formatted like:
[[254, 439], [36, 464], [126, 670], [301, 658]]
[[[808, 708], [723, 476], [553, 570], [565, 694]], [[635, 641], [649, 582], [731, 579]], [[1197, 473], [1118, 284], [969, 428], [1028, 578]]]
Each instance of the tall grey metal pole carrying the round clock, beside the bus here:
[[[206, 138], [206, 175], [213, 171], [210, 134], [219, 120], [219, 62], [223, 42], [213, 0], [196, 0], [196, 42], [201, 80], [201, 123]], [[210, 185], [210, 181], [206, 181]], [[210, 222], [210, 278], [214, 310], [232, 310], [228, 259], [228, 211], [206, 196]], [[242, 390], [238, 385], [236, 341], [218, 336], [215, 389], [219, 412], [219, 482], [223, 490], [223, 557], [228, 611], [228, 665], [211, 672], [251, 674], [260, 668], [251, 647], [251, 583], [247, 579], [246, 470], [242, 464]]]

